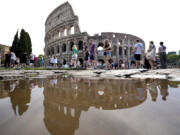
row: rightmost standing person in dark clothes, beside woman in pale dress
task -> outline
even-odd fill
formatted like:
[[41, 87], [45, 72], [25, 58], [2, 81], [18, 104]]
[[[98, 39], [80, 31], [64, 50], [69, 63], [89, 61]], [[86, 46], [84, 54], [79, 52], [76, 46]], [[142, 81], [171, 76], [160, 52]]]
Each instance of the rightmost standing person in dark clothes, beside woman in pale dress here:
[[166, 46], [164, 46], [163, 42], [160, 42], [160, 46], [158, 49], [160, 62], [161, 62], [161, 68], [166, 68]]

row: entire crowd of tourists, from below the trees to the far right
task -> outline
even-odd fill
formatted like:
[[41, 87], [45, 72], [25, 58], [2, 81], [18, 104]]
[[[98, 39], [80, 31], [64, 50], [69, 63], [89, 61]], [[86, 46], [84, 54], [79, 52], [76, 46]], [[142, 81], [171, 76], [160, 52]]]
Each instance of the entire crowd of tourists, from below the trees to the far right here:
[[[163, 42], [160, 42], [158, 47], [158, 53], [156, 53], [156, 46], [153, 41], [149, 42], [149, 47], [147, 52], [143, 52], [144, 46], [139, 40], [133, 47], [133, 54], [130, 59], [120, 60], [114, 62], [111, 58], [112, 45], [108, 39], [106, 39], [102, 45], [104, 63], [97, 61], [97, 46], [93, 39], [88, 42], [84, 42], [84, 63], [80, 62], [78, 59], [78, 48], [77, 45], [72, 46], [72, 58], [70, 63], [58, 61], [56, 56], [52, 56], [49, 60], [49, 65], [51, 67], [85, 67], [85, 68], [103, 68], [103, 69], [135, 69], [135, 68], [166, 68], [166, 46]], [[145, 55], [143, 55], [145, 54]], [[142, 58], [144, 57], [144, 58]], [[1, 58], [0, 58], [1, 59]], [[144, 60], [144, 61], [142, 61]], [[7, 68], [13, 67], [37, 67], [44, 66], [43, 57], [39, 58], [40, 64], [37, 64], [38, 58], [32, 53], [28, 56], [26, 53], [22, 53], [19, 57], [16, 57], [14, 52], [8, 52], [5, 54], [4, 66]], [[1, 64], [1, 63], [0, 63]]]

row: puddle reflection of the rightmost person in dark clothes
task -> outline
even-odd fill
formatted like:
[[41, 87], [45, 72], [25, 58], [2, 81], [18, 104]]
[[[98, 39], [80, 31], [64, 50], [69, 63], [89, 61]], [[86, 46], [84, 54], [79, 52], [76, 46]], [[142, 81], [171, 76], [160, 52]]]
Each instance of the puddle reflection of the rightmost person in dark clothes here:
[[166, 97], [169, 95], [168, 93], [168, 80], [161, 80], [159, 83], [160, 94], [162, 96], [162, 100], [166, 100]]

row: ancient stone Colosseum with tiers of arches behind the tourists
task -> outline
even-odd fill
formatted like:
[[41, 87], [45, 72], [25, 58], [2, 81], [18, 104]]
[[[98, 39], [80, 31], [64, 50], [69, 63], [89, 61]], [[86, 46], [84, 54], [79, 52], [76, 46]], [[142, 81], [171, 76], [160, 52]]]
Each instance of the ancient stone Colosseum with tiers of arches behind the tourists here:
[[[102, 32], [101, 35], [90, 36], [87, 32], [81, 32], [78, 16], [74, 14], [72, 6], [66, 2], [58, 6], [45, 22], [45, 63], [49, 63], [51, 56], [57, 56], [61, 64], [69, 63], [72, 58], [72, 46], [78, 46], [78, 59], [83, 64], [84, 53], [83, 43], [94, 39], [97, 45], [97, 59], [104, 61], [102, 50], [98, 49], [103, 45], [105, 39], [112, 44], [112, 60], [116, 63], [119, 60], [129, 61], [133, 53], [133, 45], [139, 39], [144, 45], [145, 42], [134, 35], [114, 32]], [[99, 50], [99, 51], [98, 51]]]

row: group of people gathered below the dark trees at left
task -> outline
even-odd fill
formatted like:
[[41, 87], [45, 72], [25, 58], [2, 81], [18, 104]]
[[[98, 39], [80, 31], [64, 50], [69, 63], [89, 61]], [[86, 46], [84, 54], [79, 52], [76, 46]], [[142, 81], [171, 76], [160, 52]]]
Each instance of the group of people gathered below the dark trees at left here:
[[[19, 57], [16, 57], [14, 52], [8, 52], [5, 54], [4, 67], [6, 68], [24, 68], [24, 67], [36, 67], [38, 57], [32, 53], [28, 56], [26, 53], [22, 53]], [[40, 66], [44, 65], [43, 57], [40, 58]]]

